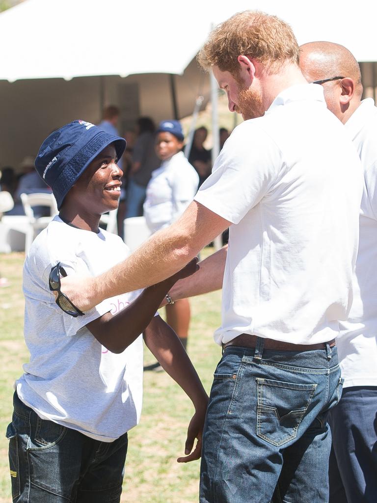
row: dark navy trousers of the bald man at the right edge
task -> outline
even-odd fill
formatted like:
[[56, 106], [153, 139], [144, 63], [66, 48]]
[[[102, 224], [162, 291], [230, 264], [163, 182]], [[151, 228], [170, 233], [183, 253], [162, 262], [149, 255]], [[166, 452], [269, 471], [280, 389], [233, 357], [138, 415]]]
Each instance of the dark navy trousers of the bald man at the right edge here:
[[330, 503], [377, 501], [376, 411], [376, 386], [345, 388], [330, 411]]

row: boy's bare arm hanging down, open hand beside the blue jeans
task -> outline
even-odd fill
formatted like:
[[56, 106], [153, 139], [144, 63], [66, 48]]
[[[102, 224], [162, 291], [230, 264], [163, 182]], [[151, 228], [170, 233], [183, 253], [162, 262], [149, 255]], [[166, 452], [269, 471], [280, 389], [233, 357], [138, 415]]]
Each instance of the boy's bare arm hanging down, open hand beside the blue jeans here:
[[[195, 414], [187, 429], [184, 446], [186, 456], [178, 458], [177, 461], [186, 463], [199, 459], [202, 452], [202, 433], [208, 403], [207, 393], [174, 330], [159, 316], [154, 317], [145, 329], [144, 341], [169, 376], [191, 398], [195, 407]], [[198, 443], [191, 452], [196, 438]]]

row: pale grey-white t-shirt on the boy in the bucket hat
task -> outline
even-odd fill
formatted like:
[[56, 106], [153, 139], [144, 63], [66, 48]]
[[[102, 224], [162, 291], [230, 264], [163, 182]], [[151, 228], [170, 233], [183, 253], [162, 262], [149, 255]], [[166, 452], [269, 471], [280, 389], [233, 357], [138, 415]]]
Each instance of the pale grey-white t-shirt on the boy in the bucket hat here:
[[114, 354], [85, 325], [106, 312], [115, 314], [139, 292], [107, 299], [73, 318], [55, 303], [48, 276], [57, 262], [68, 275], [99, 275], [128, 253], [120, 237], [104, 230], [80, 230], [56, 216], [36, 237], [24, 266], [24, 332], [30, 362], [16, 381], [17, 393], [42, 419], [104, 442], [139, 422], [143, 343], [140, 336], [123, 353]]

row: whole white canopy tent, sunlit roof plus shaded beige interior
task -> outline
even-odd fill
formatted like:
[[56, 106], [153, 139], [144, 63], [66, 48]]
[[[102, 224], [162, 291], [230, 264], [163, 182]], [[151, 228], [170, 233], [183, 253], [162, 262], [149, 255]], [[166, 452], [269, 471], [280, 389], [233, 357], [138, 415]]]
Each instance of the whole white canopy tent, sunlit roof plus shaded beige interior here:
[[[98, 121], [103, 104], [156, 120], [191, 113], [199, 88], [206, 97], [210, 93], [193, 57], [213, 24], [245, 9], [286, 20], [300, 44], [329, 40], [348, 47], [359, 61], [377, 61], [377, 6], [366, 0], [357, 7], [349, 0], [192, 0], [173, 6], [26, 0], [0, 15], [0, 161], [15, 163], [16, 151], [34, 154], [41, 138], [64, 121], [83, 115]], [[122, 89], [127, 103], [120, 99]], [[136, 101], [137, 111], [130, 110]], [[30, 140], [26, 146], [20, 136]]]

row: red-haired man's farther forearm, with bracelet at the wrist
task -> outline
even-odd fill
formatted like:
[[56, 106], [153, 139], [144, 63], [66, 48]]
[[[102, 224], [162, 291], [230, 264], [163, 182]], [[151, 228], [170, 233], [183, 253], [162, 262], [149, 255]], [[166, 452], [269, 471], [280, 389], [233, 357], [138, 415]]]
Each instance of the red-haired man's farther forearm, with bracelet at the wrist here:
[[[225, 261], [227, 258], [228, 245], [199, 263], [200, 270], [194, 276], [187, 276], [177, 281], [169, 290], [169, 296], [173, 301], [202, 295], [204, 293], [220, 290], [223, 286]], [[163, 299], [161, 306], [167, 304]]]

